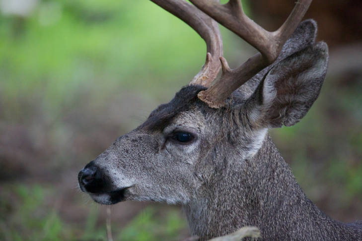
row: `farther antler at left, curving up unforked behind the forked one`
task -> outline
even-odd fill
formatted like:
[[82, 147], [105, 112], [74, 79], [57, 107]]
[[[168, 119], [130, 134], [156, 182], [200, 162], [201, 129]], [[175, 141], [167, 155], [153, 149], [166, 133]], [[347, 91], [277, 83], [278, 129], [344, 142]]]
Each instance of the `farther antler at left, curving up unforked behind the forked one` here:
[[205, 40], [207, 46], [205, 64], [190, 84], [210, 87], [221, 67], [219, 58], [222, 56], [222, 38], [217, 22], [184, 0], [151, 1], [186, 22]]

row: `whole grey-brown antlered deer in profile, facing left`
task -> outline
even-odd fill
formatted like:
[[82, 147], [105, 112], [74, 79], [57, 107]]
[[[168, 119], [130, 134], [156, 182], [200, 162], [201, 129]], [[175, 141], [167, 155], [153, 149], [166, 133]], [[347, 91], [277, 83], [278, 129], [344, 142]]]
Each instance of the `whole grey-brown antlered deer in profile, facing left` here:
[[[362, 221], [322, 212], [268, 134], [306, 115], [326, 75], [328, 46], [315, 42], [314, 20], [301, 21], [311, 0], [297, 0], [274, 32], [246, 16], [240, 0], [152, 1], [205, 40], [205, 64], [169, 103], [89, 162], [78, 174], [80, 189], [107, 205], [181, 205], [200, 240], [255, 226], [265, 241], [362, 241]], [[231, 69], [218, 23], [259, 52]]]

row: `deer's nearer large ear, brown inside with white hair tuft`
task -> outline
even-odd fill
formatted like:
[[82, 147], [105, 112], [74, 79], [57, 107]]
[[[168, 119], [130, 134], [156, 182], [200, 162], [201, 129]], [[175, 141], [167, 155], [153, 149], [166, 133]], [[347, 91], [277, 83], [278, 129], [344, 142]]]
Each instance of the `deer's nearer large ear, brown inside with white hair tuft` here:
[[297, 123], [317, 99], [327, 63], [328, 47], [324, 42], [311, 45], [277, 63], [251, 97], [253, 122], [265, 127]]

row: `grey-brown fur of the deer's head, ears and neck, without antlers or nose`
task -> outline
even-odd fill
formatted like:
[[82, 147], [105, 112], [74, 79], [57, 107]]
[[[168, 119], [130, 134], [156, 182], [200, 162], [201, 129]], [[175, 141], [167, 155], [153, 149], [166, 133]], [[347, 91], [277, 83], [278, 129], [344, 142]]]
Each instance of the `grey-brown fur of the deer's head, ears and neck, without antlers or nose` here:
[[[94, 160], [109, 183], [92, 198], [113, 204], [107, 192], [128, 187], [122, 200], [181, 204], [201, 240], [256, 226], [260, 240], [362, 241], [361, 223], [334, 221], [305, 196], [267, 134], [300, 120], [319, 94], [328, 49], [315, 33], [314, 21], [301, 23], [280, 59], [224, 108], [201, 102], [202, 86], [182, 88]], [[196, 138], [181, 144], [175, 131]]]

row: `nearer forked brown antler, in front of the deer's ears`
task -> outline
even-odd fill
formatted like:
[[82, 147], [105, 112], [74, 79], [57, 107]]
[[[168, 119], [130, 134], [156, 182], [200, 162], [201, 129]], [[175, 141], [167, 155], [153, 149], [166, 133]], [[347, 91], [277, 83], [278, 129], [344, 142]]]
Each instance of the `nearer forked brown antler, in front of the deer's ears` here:
[[223, 65], [221, 78], [209, 89], [199, 93], [202, 101], [210, 107], [219, 108], [225, 105], [225, 99], [234, 90], [278, 58], [312, 0], [298, 0], [288, 19], [275, 32], [266, 31], [247, 17], [240, 0], [229, 0], [226, 4], [210, 0], [190, 1], [260, 52], [235, 69], [230, 69], [227, 61], [220, 58]]

